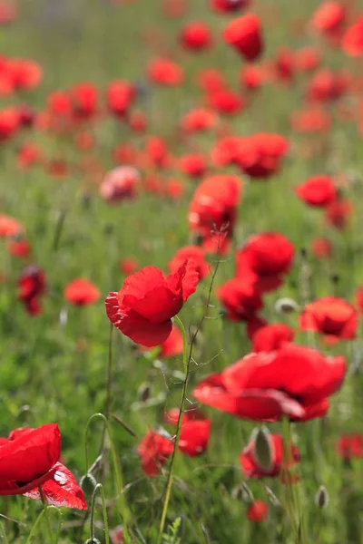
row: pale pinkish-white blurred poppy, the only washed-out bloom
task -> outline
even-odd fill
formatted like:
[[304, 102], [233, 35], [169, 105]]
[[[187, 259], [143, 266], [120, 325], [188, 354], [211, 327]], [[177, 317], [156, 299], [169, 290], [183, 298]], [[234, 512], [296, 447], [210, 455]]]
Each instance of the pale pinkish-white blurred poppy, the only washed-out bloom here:
[[139, 171], [132, 166], [118, 166], [109, 171], [100, 186], [100, 195], [107, 202], [134, 199], [140, 185]]

